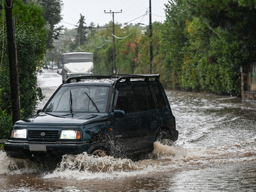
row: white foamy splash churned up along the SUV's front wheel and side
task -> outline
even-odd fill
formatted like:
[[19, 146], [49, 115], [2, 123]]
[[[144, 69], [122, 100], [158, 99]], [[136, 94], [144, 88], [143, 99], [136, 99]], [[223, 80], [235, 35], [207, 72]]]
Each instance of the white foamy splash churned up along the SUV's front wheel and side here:
[[179, 146], [154, 143], [154, 151], [145, 159], [132, 161], [111, 156], [88, 156], [85, 152], [77, 156], [65, 155], [54, 172], [45, 174], [45, 179], [113, 179], [113, 177], [133, 177], [163, 171], [171, 166], [177, 166], [189, 159], [200, 159], [202, 154], [196, 154]]

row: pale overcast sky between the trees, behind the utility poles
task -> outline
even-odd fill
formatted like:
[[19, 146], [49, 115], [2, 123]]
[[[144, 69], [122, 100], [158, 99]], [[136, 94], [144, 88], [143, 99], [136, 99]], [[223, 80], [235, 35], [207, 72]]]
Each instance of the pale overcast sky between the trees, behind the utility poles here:
[[[164, 22], [164, 4], [166, 3], [168, 0], [151, 0], [152, 22]], [[91, 22], [94, 22], [95, 26], [108, 24], [113, 17], [110, 13], [104, 13], [104, 10], [106, 12], [122, 10], [122, 13], [115, 14], [115, 23], [136, 24], [141, 22], [148, 25], [149, 22], [149, 0], [63, 0], [63, 4], [61, 24], [68, 29], [76, 28], [74, 25], [80, 19], [80, 13], [84, 16], [86, 26], [89, 26]], [[145, 16], [143, 17], [143, 15]]]

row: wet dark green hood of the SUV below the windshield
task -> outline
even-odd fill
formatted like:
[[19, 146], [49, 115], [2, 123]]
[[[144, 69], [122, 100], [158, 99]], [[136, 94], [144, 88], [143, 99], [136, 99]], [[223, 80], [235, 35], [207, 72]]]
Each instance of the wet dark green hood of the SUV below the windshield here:
[[16, 122], [27, 125], [85, 125], [108, 120], [110, 113], [39, 113], [35, 118], [22, 119]]

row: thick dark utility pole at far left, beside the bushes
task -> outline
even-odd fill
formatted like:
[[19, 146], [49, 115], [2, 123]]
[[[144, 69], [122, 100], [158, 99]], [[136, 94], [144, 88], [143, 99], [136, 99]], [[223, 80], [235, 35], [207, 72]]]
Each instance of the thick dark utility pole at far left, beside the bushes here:
[[20, 120], [19, 73], [17, 63], [17, 47], [13, 35], [12, 0], [5, 0], [6, 32], [8, 42], [8, 58], [10, 68], [10, 86], [12, 97], [12, 122]]

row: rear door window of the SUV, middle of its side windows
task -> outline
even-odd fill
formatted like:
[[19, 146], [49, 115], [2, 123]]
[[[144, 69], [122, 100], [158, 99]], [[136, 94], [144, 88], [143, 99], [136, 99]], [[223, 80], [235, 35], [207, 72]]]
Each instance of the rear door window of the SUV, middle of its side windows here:
[[137, 111], [147, 111], [150, 109], [156, 109], [154, 98], [147, 85], [133, 86], [134, 99], [136, 103]]

